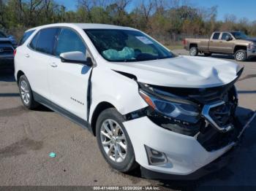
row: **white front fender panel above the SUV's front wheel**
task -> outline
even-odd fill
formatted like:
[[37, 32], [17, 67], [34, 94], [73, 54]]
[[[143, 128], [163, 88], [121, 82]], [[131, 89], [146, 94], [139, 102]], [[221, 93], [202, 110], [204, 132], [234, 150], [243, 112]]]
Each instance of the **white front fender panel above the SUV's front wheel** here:
[[89, 122], [94, 109], [102, 102], [112, 104], [122, 115], [148, 106], [140, 97], [138, 82], [134, 78], [134, 75], [120, 74], [111, 69], [95, 68], [91, 75]]

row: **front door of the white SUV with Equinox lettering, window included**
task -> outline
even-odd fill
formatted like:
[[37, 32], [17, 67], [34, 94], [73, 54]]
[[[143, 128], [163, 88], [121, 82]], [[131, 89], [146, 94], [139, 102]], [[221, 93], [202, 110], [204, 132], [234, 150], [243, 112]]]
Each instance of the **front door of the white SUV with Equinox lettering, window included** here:
[[59, 55], [72, 51], [86, 54], [86, 44], [77, 31], [72, 28], [61, 28], [56, 43], [56, 57], [50, 59], [49, 66], [51, 101], [86, 120], [91, 67], [80, 63], [62, 63]]

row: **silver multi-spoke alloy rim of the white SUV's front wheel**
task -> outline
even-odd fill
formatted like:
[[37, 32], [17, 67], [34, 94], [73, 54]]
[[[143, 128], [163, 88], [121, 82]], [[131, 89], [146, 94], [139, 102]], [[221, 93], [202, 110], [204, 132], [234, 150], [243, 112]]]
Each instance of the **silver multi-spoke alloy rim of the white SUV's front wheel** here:
[[105, 120], [100, 128], [100, 139], [105, 153], [116, 163], [127, 156], [127, 139], [115, 120]]

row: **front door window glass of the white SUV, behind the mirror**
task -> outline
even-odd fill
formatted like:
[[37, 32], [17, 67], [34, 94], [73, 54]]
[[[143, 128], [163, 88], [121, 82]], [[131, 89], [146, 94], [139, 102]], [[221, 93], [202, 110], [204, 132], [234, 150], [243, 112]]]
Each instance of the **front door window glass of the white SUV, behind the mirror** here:
[[86, 54], [86, 46], [80, 36], [69, 28], [62, 28], [56, 46], [56, 55], [63, 52], [80, 51]]

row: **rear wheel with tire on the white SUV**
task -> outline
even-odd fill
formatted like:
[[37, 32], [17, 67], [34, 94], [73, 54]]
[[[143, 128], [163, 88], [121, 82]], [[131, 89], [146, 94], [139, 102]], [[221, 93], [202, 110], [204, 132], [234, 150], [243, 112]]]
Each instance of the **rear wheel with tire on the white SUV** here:
[[25, 75], [22, 75], [19, 79], [19, 92], [21, 101], [27, 109], [35, 109], [37, 106], [39, 106], [37, 101], [34, 101], [33, 93], [29, 85], [29, 80]]

